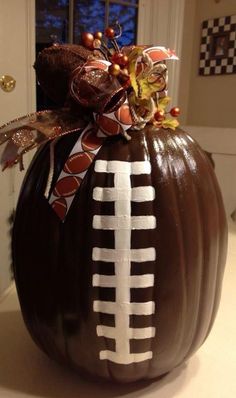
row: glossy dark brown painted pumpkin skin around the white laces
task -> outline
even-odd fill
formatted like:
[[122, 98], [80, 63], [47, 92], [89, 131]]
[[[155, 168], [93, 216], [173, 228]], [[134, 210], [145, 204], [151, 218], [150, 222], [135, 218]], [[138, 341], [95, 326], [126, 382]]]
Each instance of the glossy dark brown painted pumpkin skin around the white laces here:
[[[56, 146], [54, 180], [76, 140]], [[92, 286], [92, 275], [111, 267], [92, 261], [94, 246], [114, 247], [112, 231], [92, 228], [94, 214], [113, 214], [112, 203], [92, 199], [95, 186], [113, 186], [110, 174], [89, 169], [62, 224], [43, 193], [49, 148], [35, 157], [18, 203], [14, 236], [14, 272], [26, 325], [52, 358], [79, 371], [119, 382], [163, 375], [193, 354], [212, 327], [220, 299], [227, 227], [221, 194], [208, 158], [181, 130], [146, 128], [126, 142], [108, 139], [97, 159], [150, 159], [151, 175], [132, 177], [132, 186], [155, 187], [154, 202], [132, 203], [132, 215], [154, 215], [154, 230], [132, 233], [132, 247], [153, 246], [155, 262], [140, 273], [154, 273], [153, 288], [132, 289], [134, 302], [154, 300], [151, 317], [130, 316], [130, 327], [156, 327], [154, 339], [132, 340], [131, 352], [151, 349], [153, 358], [130, 365], [99, 359], [114, 350], [112, 339], [98, 337], [96, 325], [114, 325], [110, 315], [95, 313], [93, 301], [114, 300], [114, 289]], [[134, 270], [132, 271], [134, 272]], [[151, 346], [150, 346], [151, 342]]]

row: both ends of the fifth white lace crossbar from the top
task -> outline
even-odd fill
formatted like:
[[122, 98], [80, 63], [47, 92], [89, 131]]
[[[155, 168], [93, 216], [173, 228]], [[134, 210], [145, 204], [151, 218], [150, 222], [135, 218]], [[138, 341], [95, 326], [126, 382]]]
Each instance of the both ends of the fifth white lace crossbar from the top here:
[[[139, 289], [154, 286], [154, 275], [124, 275], [122, 283], [128, 286], [129, 289]], [[93, 286], [97, 287], [117, 287], [117, 276], [116, 275], [93, 275]]]

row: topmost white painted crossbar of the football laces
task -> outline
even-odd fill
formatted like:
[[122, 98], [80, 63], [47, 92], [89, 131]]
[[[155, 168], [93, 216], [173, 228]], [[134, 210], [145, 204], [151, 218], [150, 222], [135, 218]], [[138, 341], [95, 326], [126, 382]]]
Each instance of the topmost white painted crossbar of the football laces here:
[[150, 174], [151, 164], [148, 160], [140, 162], [96, 160], [94, 170], [97, 173]]

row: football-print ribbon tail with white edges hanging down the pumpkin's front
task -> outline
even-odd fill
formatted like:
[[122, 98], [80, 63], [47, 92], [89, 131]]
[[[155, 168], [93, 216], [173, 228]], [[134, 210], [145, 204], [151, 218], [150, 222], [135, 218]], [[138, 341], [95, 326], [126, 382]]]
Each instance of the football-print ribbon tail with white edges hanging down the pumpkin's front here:
[[49, 198], [49, 203], [62, 221], [104, 139], [123, 134], [131, 126], [132, 118], [126, 101], [115, 112], [95, 115], [95, 123], [89, 123], [80, 134]]

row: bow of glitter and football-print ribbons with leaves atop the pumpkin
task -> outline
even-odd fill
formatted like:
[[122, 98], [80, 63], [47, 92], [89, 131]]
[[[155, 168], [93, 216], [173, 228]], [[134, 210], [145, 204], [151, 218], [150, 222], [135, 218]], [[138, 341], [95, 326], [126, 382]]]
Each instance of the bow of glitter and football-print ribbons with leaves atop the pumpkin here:
[[[114, 37], [112, 40], [114, 44]], [[102, 45], [99, 48], [104, 53]], [[51, 141], [45, 196], [64, 220], [88, 167], [107, 136], [121, 134], [129, 140], [127, 131], [143, 128], [146, 123], [153, 123], [157, 128], [174, 129], [178, 125], [177, 120], [165, 116], [179, 113], [178, 108], [165, 112], [170, 101], [164, 64], [167, 59], [178, 58], [164, 47], [129, 47], [123, 52], [118, 49], [106, 60], [87, 59], [71, 74], [70, 96], [93, 110], [90, 122], [78, 118], [71, 108], [62, 108], [32, 113], [2, 126], [0, 161], [3, 169], [18, 162], [22, 169], [22, 157], [26, 152]], [[113, 60], [120, 61], [120, 65]], [[55, 140], [75, 131], [79, 132], [78, 140], [51, 189]], [[50, 197], [49, 192], [52, 192]]]

